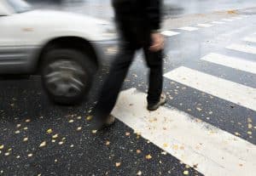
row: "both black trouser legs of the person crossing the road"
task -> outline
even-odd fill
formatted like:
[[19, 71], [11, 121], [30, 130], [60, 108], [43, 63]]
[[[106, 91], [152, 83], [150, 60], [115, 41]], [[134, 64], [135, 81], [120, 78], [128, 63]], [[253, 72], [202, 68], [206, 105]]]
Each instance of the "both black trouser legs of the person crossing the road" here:
[[[149, 46], [142, 46], [149, 71], [148, 104], [159, 101], [163, 85], [162, 73], [162, 51], [151, 52]], [[137, 48], [129, 43], [124, 43], [119, 49], [120, 52], [113, 60], [109, 74], [102, 86], [102, 91], [98, 99], [95, 116], [104, 120], [113, 110], [113, 106], [118, 98], [119, 91], [125, 80], [128, 69], [134, 58]]]

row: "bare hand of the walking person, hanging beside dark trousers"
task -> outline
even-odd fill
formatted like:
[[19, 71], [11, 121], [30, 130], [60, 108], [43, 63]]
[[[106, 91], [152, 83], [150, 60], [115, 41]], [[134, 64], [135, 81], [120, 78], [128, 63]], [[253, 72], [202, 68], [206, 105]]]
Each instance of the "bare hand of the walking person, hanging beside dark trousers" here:
[[152, 45], [149, 50], [156, 52], [164, 48], [165, 39], [159, 32], [151, 34]]

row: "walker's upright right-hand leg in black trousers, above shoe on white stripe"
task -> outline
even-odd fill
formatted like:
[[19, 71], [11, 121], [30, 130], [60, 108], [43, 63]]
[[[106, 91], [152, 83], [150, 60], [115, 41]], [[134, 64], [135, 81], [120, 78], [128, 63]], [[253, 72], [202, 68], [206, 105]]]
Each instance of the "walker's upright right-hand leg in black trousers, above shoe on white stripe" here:
[[143, 48], [149, 71], [148, 105], [160, 101], [163, 88], [163, 51], [152, 52], [148, 47]]

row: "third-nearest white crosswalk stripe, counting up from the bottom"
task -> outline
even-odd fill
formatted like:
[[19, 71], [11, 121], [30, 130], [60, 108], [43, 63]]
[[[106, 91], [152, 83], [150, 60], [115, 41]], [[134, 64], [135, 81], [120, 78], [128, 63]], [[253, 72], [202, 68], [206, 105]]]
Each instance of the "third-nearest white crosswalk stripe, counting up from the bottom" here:
[[223, 54], [207, 54], [201, 60], [206, 60], [218, 65], [229, 66], [240, 71], [247, 71], [256, 74], [256, 62], [242, 60], [240, 58], [230, 57]]

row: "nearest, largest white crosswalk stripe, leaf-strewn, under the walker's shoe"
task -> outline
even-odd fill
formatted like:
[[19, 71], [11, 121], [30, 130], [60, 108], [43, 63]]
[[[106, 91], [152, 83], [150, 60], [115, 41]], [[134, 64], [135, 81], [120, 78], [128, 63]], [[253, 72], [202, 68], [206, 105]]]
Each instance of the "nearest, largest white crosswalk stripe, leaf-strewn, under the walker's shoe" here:
[[119, 94], [112, 114], [143, 138], [207, 176], [253, 176], [256, 172], [255, 145], [174, 108], [160, 107], [149, 112], [146, 94], [136, 88]]

